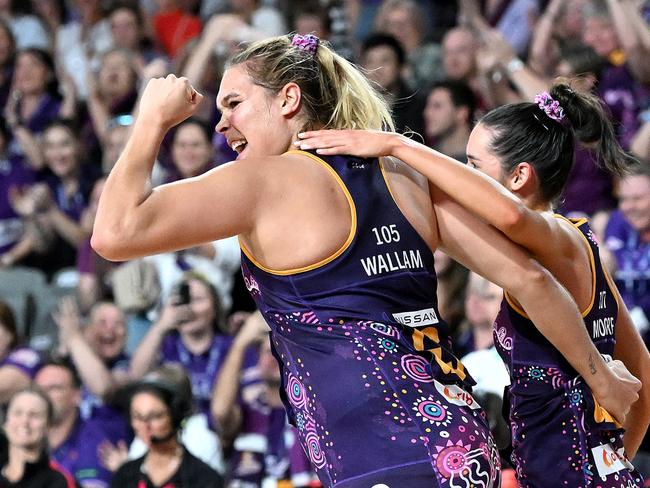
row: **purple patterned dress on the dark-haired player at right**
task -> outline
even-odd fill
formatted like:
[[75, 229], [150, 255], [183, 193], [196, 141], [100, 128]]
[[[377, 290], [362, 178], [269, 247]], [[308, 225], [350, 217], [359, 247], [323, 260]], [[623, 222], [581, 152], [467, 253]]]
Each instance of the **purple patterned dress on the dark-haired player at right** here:
[[[558, 218], [563, 218], [558, 216]], [[614, 352], [618, 305], [586, 219], [571, 223], [589, 244], [593, 297], [585, 327], [601, 354]], [[623, 450], [623, 431], [525, 313], [505, 295], [494, 343], [510, 372], [506, 389], [512, 460], [522, 488], [643, 486]]]

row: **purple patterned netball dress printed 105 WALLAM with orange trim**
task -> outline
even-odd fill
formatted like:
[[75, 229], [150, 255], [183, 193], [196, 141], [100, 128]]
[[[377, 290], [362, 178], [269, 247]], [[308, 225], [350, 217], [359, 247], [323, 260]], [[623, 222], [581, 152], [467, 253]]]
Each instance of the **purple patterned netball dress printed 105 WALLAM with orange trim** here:
[[332, 256], [265, 268], [242, 246], [248, 290], [271, 326], [283, 400], [326, 487], [495, 487], [499, 455], [473, 380], [451, 349], [433, 254], [374, 160], [312, 158], [350, 204]]

